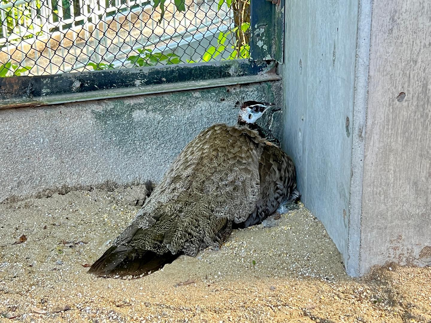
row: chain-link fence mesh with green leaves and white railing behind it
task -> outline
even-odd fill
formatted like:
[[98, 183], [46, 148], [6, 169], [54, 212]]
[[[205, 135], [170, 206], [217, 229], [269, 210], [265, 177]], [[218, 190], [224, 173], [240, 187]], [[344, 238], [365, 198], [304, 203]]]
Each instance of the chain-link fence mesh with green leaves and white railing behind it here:
[[250, 56], [250, 0], [0, 0], [0, 77]]

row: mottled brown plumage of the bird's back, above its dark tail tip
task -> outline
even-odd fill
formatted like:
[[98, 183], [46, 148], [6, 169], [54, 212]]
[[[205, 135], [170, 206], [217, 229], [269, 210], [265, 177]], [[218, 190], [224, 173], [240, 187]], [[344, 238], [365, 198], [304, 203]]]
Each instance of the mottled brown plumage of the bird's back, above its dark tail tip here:
[[[172, 162], [114, 245], [195, 255], [226, 224], [244, 221], [259, 198], [263, 140], [244, 126], [203, 130]], [[225, 218], [226, 221], [220, 221]]]

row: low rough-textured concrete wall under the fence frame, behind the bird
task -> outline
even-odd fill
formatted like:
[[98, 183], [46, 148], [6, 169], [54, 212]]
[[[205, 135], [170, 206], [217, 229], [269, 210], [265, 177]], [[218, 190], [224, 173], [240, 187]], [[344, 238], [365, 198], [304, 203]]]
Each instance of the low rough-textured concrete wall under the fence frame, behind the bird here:
[[240, 97], [281, 105], [281, 83], [0, 110], [0, 202], [159, 180], [200, 130], [236, 122]]

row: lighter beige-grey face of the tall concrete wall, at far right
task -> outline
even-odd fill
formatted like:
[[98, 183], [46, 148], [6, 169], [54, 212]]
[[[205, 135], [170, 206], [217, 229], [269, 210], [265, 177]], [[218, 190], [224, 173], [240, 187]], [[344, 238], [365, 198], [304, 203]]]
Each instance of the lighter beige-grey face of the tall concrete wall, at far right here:
[[375, 1], [372, 17], [361, 268], [431, 265], [431, 2]]

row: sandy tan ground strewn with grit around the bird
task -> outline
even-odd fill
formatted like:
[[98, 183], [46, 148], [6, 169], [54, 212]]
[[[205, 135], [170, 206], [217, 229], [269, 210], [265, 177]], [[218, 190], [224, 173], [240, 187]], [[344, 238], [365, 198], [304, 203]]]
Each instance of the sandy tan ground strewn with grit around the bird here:
[[142, 193], [95, 189], [0, 205], [0, 321], [431, 323], [430, 267], [350, 278], [303, 207], [143, 278], [88, 274], [83, 265], [131, 221]]

